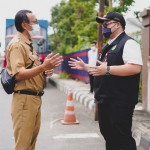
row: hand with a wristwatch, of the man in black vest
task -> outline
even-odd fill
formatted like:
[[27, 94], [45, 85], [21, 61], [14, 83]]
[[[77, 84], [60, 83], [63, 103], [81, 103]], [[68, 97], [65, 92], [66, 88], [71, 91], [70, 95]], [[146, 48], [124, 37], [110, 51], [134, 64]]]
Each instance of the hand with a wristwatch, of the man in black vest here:
[[97, 60], [97, 62], [100, 64], [100, 66], [90, 67], [88, 70], [89, 74], [93, 76], [105, 75], [107, 70], [107, 63], [101, 62], [99, 60]]

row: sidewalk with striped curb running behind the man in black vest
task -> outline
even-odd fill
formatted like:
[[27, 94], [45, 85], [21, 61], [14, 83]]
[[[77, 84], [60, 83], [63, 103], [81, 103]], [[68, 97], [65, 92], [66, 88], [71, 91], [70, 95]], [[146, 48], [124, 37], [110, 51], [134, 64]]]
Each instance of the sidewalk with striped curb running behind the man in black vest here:
[[[74, 100], [94, 112], [94, 95], [87, 94], [90, 90], [88, 84], [72, 79], [59, 79], [57, 74], [49, 77], [48, 81], [66, 94], [71, 90]], [[140, 103], [135, 107], [132, 132], [138, 150], [150, 150], [150, 114], [142, 110]]]

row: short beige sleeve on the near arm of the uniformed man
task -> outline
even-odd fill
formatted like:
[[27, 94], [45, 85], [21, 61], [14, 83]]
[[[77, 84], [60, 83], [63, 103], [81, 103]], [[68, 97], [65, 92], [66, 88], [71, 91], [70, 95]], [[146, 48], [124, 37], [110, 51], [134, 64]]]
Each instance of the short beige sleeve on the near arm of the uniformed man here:
[[13, 76], [25, 69], [25, 61], [23, 56], [23, 49], [21, 46], [15, 45], [12, 47], [10, 51], [10, 65]]

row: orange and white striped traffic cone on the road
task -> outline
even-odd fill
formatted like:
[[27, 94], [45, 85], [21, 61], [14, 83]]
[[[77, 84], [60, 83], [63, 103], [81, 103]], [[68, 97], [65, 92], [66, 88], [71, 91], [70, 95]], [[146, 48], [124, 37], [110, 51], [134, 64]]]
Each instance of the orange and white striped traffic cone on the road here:
[[74, 106], [73, 106], [73, 98], [72, 92], [68, 94], [68, 99], [66, 103], [66, 110], [64, 115], [64, 120], [61, 120], [62, 124], [69, 125], [69, 124], [79, 124], [79, 121], [76, 120], [76, 116], [74, 113]]

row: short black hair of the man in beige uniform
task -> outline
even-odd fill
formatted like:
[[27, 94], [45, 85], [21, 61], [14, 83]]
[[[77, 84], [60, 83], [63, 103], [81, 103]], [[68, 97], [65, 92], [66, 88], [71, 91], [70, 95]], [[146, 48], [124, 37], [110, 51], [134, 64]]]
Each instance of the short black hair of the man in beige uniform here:
[[29, 23], [29, 18], [27, 17], [27, 13], [32, 13], [30, 10], [20, 10], [17, 12], [15, 16], [15, 27], [17, 31], [23, 32], [24, 29], [22, 28], [21, 24], [23, 22]]

